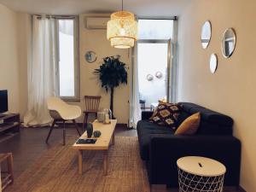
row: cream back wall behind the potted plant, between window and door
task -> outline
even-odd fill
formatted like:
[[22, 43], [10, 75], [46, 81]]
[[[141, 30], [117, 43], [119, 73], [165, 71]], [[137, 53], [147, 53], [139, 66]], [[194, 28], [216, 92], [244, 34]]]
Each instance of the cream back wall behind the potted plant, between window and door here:
[[[127, 72], [131, 64], [131, 54], [128, 49], [114, 49], [110, 46], [107, 39], [106, 30], [88, 30], [84, 27], [85, 16], [79, 15], [79, 44], [80, 44], [80, 96], [79, 104], [84, 110], [84, 96], [102, 96], [100, 108], [109, 108], [110, 94], [102, 89], [98, 76], [94, 74], [94, 69], [102, 64], [102, 58], [110, 55], [121, 55], [120, 61], [126, 63]], [[90, 15], [92, 16], [92, 15]], [[99, 16], [99, 15], [97, 15]], [[105, 15], [106, 16], [106, 15]], [[108, 16], [108, 15], [107, 15]], [[88, 63], [84, 59], [86, 51], [96, 52], [97, 60], [94, 63]], [[128, 77], [129, 79], [129, 77]], [[129, 82], [129, 80], [128, 80]], [[114, 90], [113, 113], [118, 119], [118, 123], [127, 124], [129, 119], [129, 84], [121, 84]], [[80, 119], [82, 121], [82, 118]]]

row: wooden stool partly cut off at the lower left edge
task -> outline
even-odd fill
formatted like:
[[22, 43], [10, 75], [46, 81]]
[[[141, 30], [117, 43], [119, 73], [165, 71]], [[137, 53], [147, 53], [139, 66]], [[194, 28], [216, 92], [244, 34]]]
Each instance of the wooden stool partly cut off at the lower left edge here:
[[[3, 161], [6, 161], [7, 163], [7, 172], [1, 172], [1, 164]], [[3, 173], [3, 180], [1, 181], [0, 178], [0, 191], [5, 189], [9, 184], [14, 183], [15, 177], [14, 177], [14, 160], [13, 160], [13, 154], [0, 154], [0, 177]], [[2, 189], [2, 190], [1, 190]]]

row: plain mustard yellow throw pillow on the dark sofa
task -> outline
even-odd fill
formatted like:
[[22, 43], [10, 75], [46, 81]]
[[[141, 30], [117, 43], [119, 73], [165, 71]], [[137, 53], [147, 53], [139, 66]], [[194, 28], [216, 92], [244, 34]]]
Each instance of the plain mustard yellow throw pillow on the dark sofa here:
[[183, 121], [181, 125], [177, 127], [174, 135], [193, 135], [197, 131], [200, 125], [201, 116], [200, 113], [195, 113], [189, 116]]

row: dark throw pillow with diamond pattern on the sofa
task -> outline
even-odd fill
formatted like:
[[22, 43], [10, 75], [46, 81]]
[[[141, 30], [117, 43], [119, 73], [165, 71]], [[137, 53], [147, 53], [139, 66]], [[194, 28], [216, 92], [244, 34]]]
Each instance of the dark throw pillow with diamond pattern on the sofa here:
[[154, 113], [149, 120], [152, 123], [168, 125], [175, 129], [180, 109], [181, 108], [178, 104], [160, 102], [158, 107], [154, 109]]

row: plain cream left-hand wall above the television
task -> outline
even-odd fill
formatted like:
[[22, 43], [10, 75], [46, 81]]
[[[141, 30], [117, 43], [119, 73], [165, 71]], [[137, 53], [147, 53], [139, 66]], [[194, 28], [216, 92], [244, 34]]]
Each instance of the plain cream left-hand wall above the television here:
[[9, 91], [9, 112], [26, 111], [26, 26], [28, 15], [0, 4], [0, 90]]

